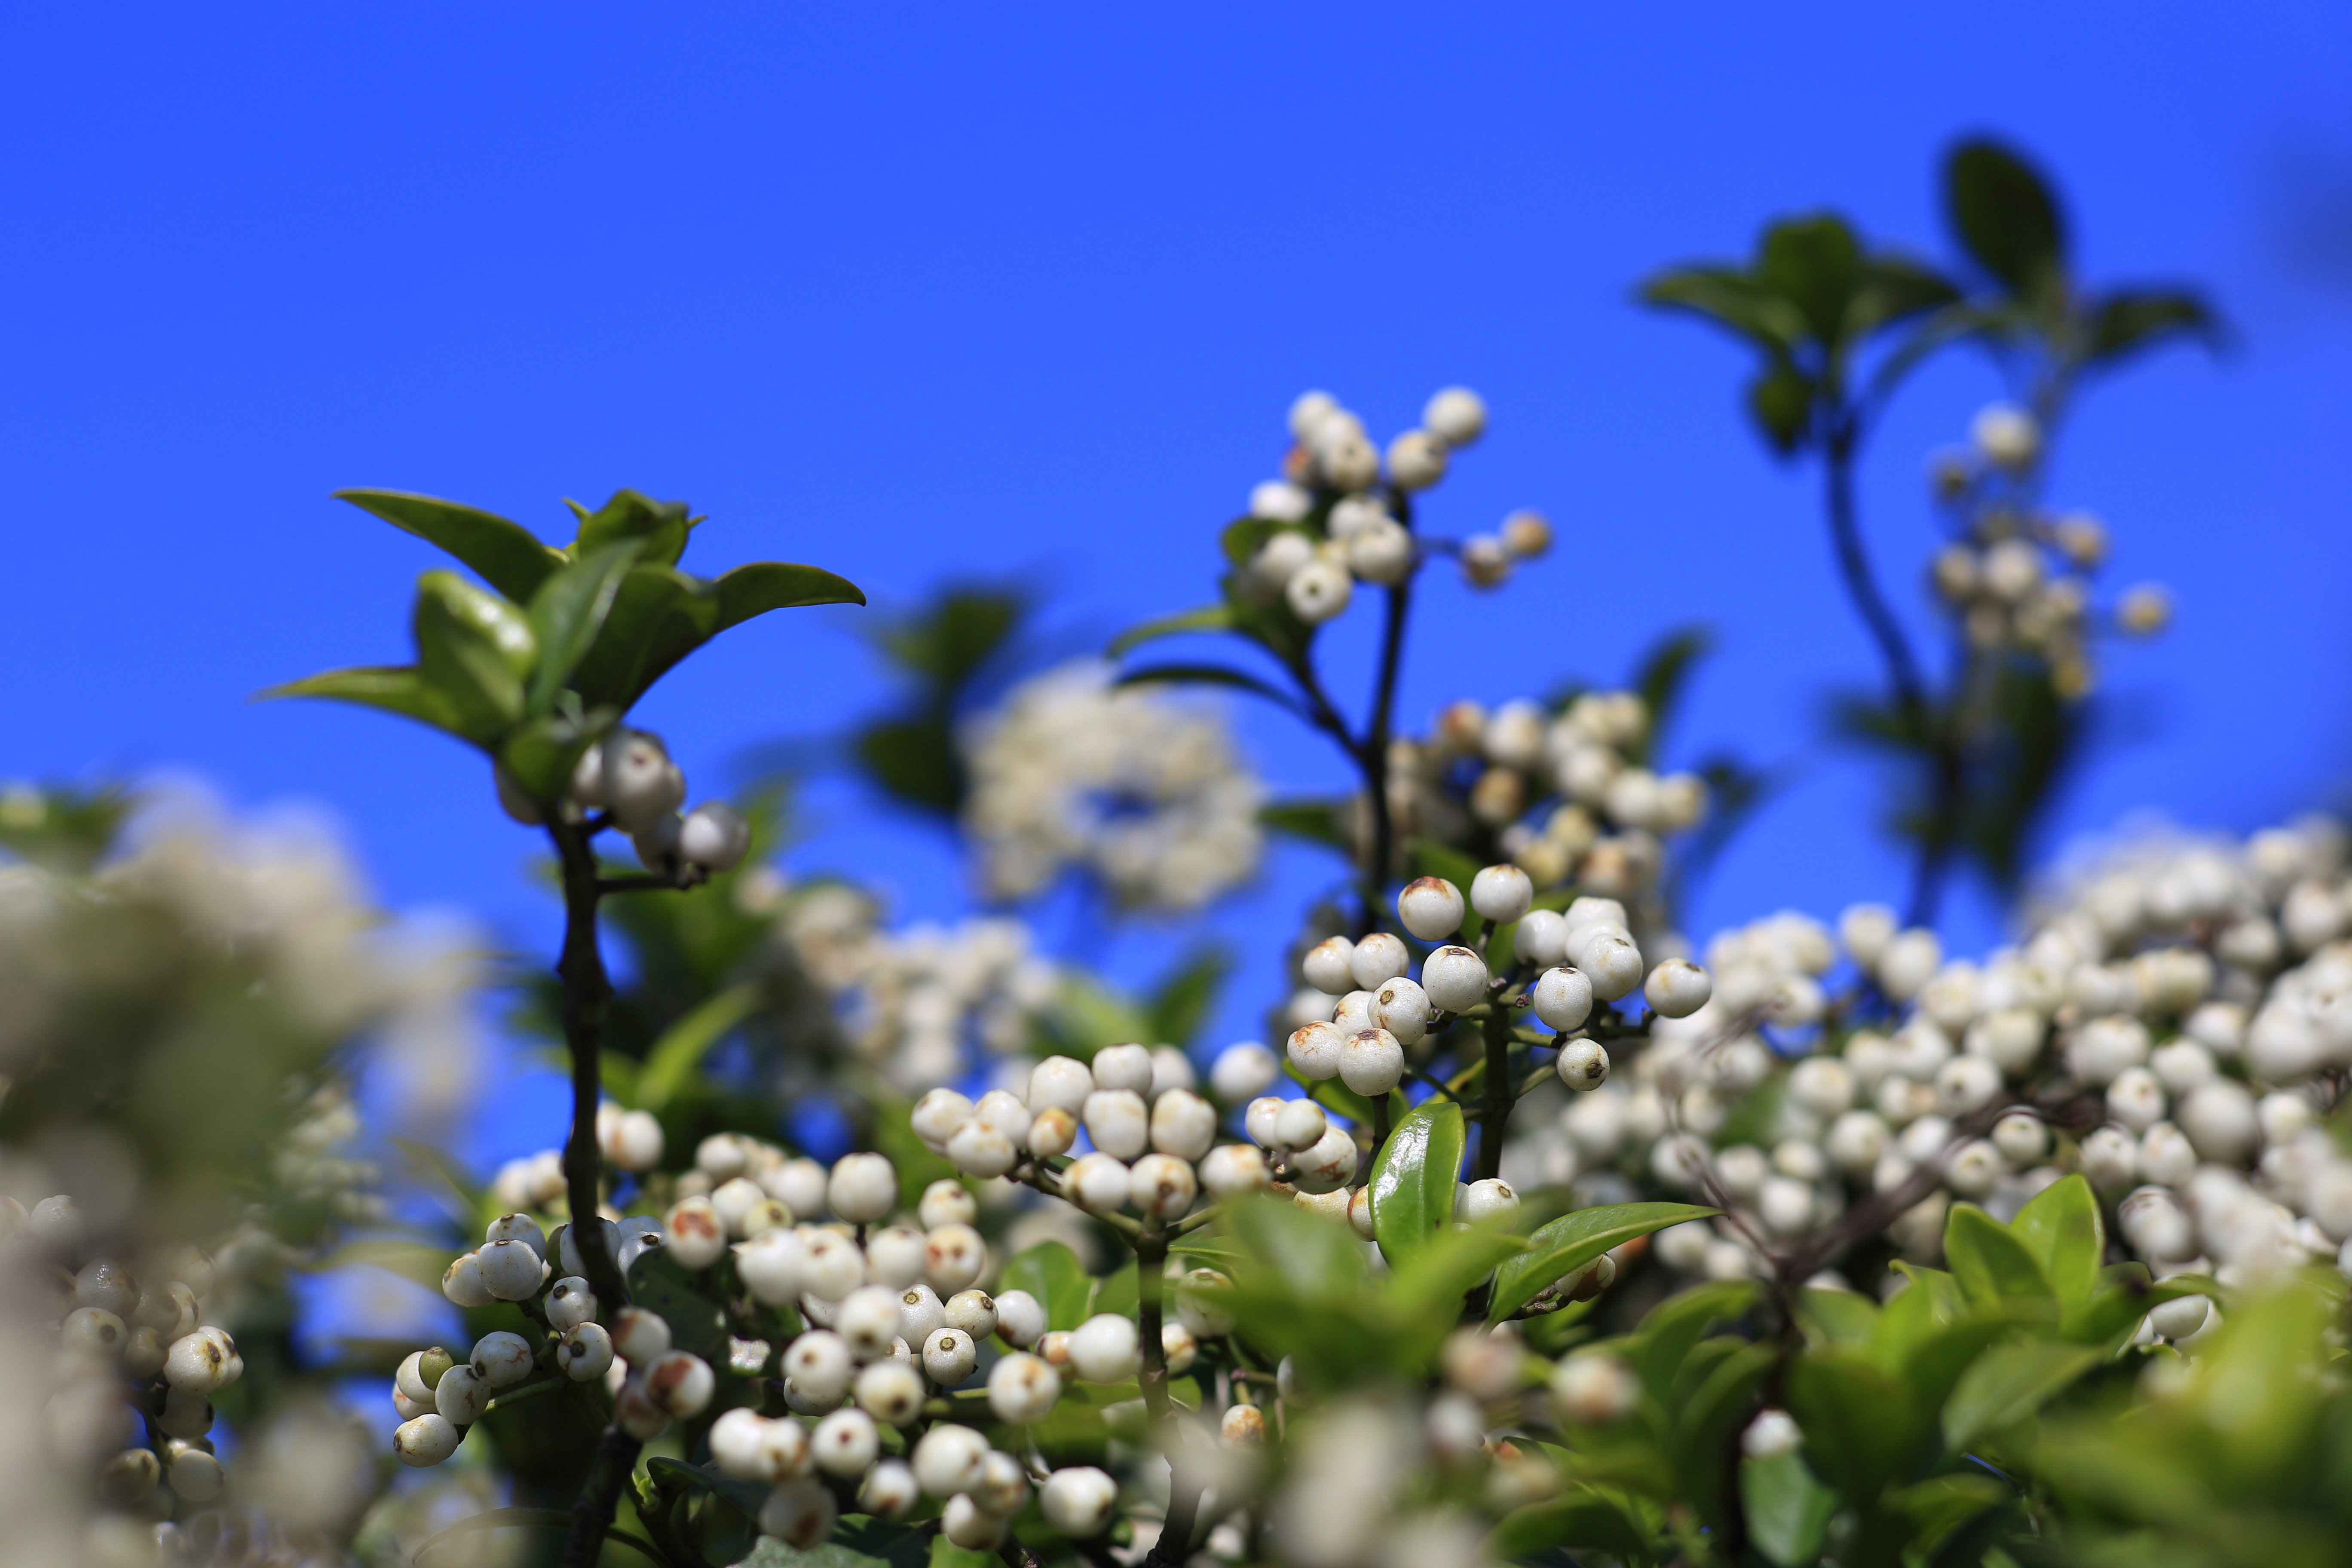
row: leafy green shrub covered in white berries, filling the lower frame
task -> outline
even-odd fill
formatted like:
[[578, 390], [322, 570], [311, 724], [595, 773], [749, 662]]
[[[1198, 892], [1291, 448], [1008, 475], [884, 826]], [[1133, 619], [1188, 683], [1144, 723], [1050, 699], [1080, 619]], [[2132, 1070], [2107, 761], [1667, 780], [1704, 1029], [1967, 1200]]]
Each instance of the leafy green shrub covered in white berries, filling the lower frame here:
[[[379, 1359], [397, 1425], [376, 1474], [306, 1512], [282, 1476], [325, 1474], [285, 1462], [327, 1448], [313, 1413], [266, 1429], [254, 1455], [280, 1479], [238, 1493], [207, 1401], [261, 1380], [240, 1382], [256, 1340], [230, 1335], [259, 1309], [214, 1305], [386, 1220], [343, 1159], [360, 1128], [332, 1048], [402, 992], [318, 867], [155, 839], [92, 870], [106, 802], [0, 802], [26, 858], [0, 875], [26, 999], [0, 1020], [9, 1159], [108, 1147], [136, 1171], [108, 1185], [85, 1159], [82, 1190], [9, 1220], [42, 1486], [85, 1483], [38, 1502], [52, 1561], [75, 1542], [329, 1561], [402, 1533], [414, 1561], [496, 1537], [666, 1568], [2333, 1561], [2343, 830], [2124, 839], [2025, 893], [2011, 945], [1947, 957], [1933, 929], [1962, 856], [2023, 884], [2093, 639], [2169, 614], [2154, 590], [2100, 609], [2103, 527], [2044, 501], [2060, 416], [2089, 371], [2211, 322], [2190, 296], [2074, 284], [2056, 205], [1997, 148], [1962, 148], [1950, 200], [1959, 282], [1802, 219], [1752, 266], [1646, 289], [1736, 331], [1759, 430], [1823, 465], [1886, 665], [1849, 726], [1915, 764], [1903, 914], [1691, 940], [1708, 835], [1759, 788], [1668, 755], [1696, 632], [1623, 689], [1465, 693], [1409, 729], [1430, 564], [1489, 592], [1552, 548], [1524, 510], [1435, 529], [1486, 435], [1465, 388], [1385, 442], [1324, 393], [1296, 400], [1279, 475], [1218, 536], [1216, 599], [1105, 663], [971, 712], [1011, 609], [964, 592], [896, 623], [924, 684], [858, 755], [960, 823], [1007, 905], [953, 929], [788, 882], [774, 799], [687, 811], [630, 724], [717, 632], [856, 588], [786, 564], [689, 576], [701, 520], [633, 491], [574, 508], [564, 548], [355, 491], [480, 583], [426, 574], [414, 665], [282, 691], [449, 731], [548, 835], [564, 945], [524, 1018], [562, 1044], [569, 1126], [487, 1182], [440, 1171], [456, 1218], [423, 1272], [461, 1338]], [[1870, 574], [1851, 477], [1907, 369], [1957, 343], [2030, 386], [1933, 468], [1957, 654], [1936, 686]], [[1319, 644], [1359, 597], [1381, 623], [1362, 710]], [[1218, 654], [1136, 658], [1176, 637]], [[1214, 710], [1164, 686], [1275, 703], [1352, 788], [1270, 799]], [[1265, 827], [1348, 860], [1345, 907], [1308, 912], [1282, 954], [1265, 1039], [1197, 1048], [1216, 957], [1134, 999], [1021, 919], [1068, 875], [1112, 914], [1202, 910]], [[621, 839], [633, 865], [609, 858]], [[172, 961], [125, 966], [134, 926]], [[607, 933], [630, 954], [619, 987]], [[186, 976], [205, 1006], [165, 994]], [[162, 1027], [212, 1006], [263, 1048], [221, 1067], [212, 1034]], [[259, 1077], [214, 1095], [242, 1117], [214, 1124], [195, 1095], [233, 1070]], [[292, 1098], [259, 1093], [289, 1077]], [[823, 1159], [816, 1110], [840, 1124]], [[174, 1166], [191, 1119], [202, 1157]], [[75, 1145], [85, 1124], [115, 1143]], [[205, 1168], [240, 1157], [263, 1175], [228, 1204]], [[223, 1232], [212, 1258], [162, 1251]], [[470, 1481], [445, 1495], [499, 1507], [419, 1542], [407, 1490], [348, 1528], [376, 1476], [452, 1462]]]

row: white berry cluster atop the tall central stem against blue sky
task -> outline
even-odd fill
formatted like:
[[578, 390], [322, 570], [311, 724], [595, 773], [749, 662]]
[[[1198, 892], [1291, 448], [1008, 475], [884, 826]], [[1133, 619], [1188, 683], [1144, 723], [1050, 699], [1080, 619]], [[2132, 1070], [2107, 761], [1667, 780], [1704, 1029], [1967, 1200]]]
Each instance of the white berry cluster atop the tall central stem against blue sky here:
[[[1249, 491], [1249, 517], [1277, 524], [1235, 576], [1249, 604], [1287, 604], [1308, 625], [1341, 616], [1355, 583], [1395, 588], [1414, 576], [1428, 545], [1397, 520], [1397, 503], [1437, 484], [1454, 451], [1486, 430], [1486, 404], [1470, 388], [1446, 388], [1421, 411], [1421, 428], [1381, 454], [1364, 421], [1329, 393], [1291, 404], [1294, 447], [1279, 480]], [[1494, 534], [1449, 545], [1472, 588], [1501, 585], [1512, 567], [1550, 550], [1552, 524], [1512, 512]]]

